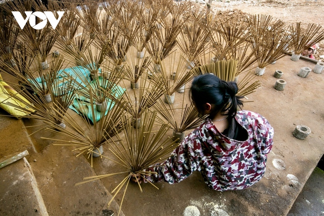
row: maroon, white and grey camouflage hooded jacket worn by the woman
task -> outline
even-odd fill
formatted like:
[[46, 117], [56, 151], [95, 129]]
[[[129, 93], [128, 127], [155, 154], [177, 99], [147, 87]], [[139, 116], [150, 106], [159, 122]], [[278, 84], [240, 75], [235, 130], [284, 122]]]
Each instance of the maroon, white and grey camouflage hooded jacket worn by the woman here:
[[273, 128], [267, 119], [255, 112], [238, 111], [235, 118], [247, 131], [247, 140], [238, 141], [222, 135], [207, 118], [185, 137], [161, 166], [146, 169], [158, 173], [147, 176], [147, 180], [174, 184], [198, 170], [205, 183], [219, 191], [245, 189], [258, 182], [266, 171]]

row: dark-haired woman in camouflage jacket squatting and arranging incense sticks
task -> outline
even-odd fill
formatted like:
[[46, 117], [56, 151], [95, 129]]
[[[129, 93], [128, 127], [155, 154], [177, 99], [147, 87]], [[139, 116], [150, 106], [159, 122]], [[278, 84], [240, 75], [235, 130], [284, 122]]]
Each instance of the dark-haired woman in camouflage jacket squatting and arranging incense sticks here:
[[[191, 99], [199, 115], [206, 119], [185, 137], [170, 157], [146, 169], [156, 172], [137, 182], [180, 182], [199, 171], [211, 189], [246, 189], [263, 177], [267, 154], [273, 144], [273, 128], [258, 113], [239, 110], [236, 82], [226, 82], [213, 74], [195, 77]], [[136, 176], [136, 177], [135, 177]]]

